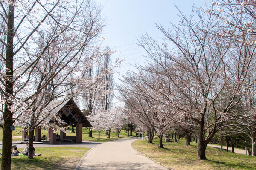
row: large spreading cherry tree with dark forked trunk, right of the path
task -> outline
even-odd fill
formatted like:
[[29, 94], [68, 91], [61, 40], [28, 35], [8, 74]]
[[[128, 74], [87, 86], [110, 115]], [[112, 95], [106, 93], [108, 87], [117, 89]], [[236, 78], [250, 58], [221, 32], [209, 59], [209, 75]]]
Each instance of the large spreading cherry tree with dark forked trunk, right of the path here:
[[[244, 85], [255, 58], [254, 48], [247, 43], [216, 36], [219, 29], [215, 24], [220, 22], [215, 20], [213, 14], [218, 11], [213, 6], [207, 15], [199, 10], [188, 17], [180, 13], [181, 22], [173, 25], [172, 31], [157, 26], [166, 43], [157, 43], [148, 35], [140, 41], [152, 61], [144, 70], [167, 80], [165, 88], [147, 79], [142, 84], [168, 102], [151, 95], [154, 93], [145, 95], [178, 109], [180, 116], [187, 116], [197, 124], [198, 159], [206, 159], [207, 144], [225, 122], [241, 114], [233, 112], [247, 91]], [[195, 17], [198, 19], [194, 20]], [[170, 44], [175, 48], [169, 49]]]

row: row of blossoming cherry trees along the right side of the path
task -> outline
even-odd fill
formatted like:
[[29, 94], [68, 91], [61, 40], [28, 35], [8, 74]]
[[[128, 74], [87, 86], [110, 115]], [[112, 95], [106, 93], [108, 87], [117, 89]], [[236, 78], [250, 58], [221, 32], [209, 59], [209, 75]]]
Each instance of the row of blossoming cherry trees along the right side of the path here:
[[256, 156], [255, 7], [254, 0], [219, 0], [180, 12], [171, 30], [157, 25], [161, 43], [141, 37], [151, 62], [124, 75], [120, 98], [159, 147], [166, 130], [179, 128], [197, 136], [197, 158], [206, 159], [214, 135], [232, 126], [246, 132]]

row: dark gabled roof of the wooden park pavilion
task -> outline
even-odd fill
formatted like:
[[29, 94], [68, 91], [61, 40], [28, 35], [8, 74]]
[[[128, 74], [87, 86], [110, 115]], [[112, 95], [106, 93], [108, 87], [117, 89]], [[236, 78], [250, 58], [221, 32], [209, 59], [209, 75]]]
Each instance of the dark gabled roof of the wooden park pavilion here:
[[83, 112], [81, 112], [72, 99], [63, 101], [54, 109], [54, 112], [58, 113], [61, 119], [68, 125], [75, 126], [76, 124], [83, 124], [83, 127], [92, 127]]

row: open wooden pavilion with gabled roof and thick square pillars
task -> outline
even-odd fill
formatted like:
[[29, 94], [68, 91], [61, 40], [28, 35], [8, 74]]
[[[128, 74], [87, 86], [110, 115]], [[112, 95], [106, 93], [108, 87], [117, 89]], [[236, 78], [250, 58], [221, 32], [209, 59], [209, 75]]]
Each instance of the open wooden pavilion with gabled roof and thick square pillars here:
[[[56, 114], [61, 116], [61, 119], [67, 123], [69, 126], [76, 127], [76, 136], [67, 136], [66, 133], [60, 133], [60, 141], [74, 141], [76, 143], [82, 142], [82, 128], [83, 127], [92, 127], [90, 122], [84, 116], [83, 112], [79, 109], [76, 103], [70, 99], [61, 103], [58, 107], [55, 108]], [[51, 122], [49, 122], [51, 123]], [[22, 140], [25, 141], [27, 133], [22, 133]], [[49, 140], [50, 144], [56, 143], [56, 133], [52, 129], [47, 129], [47, 141]], [[35, 128], [34, 141], [41, 141], [41, 127]]]

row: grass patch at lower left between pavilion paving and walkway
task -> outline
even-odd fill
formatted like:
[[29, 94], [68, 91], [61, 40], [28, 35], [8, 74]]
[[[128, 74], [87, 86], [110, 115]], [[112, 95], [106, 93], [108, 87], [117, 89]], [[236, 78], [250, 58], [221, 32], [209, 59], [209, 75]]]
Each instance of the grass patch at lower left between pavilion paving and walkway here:
[[[90, 148], [84, 147], [42, 147], [36, 148], [41, 156], [29, 160], [27, 156], [12, 156], [13, 170], [67, 170], [76, 165]], [[21, 151], [21, 150], [20, 150]], [[2, 152], [2, 150], [0, 150]], [[1, 156], [0, 156], [1, 157]]]

